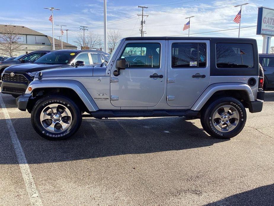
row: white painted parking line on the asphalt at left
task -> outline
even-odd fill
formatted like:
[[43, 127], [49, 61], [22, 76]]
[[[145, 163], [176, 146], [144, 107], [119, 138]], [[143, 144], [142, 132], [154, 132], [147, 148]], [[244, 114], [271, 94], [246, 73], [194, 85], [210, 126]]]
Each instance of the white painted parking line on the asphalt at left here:
[[36, 189], [35, 183], [33, 181], [32, 174], [31, 174], [30, 168], [28, 166], [28, 162], [25, 157], [25, 153], [24, 153], [24, 151], [21, 147], [21, 144], [18, 140], [17, 134], [16, 134], [15, 129], [12, 125], [12, 121], [9, 117], [9, 113], [7, 111], [6, 105], [4, 104], [4, 101], [1, 97], [1, 95], [0, 95], [0, 105], [2, 107], [4, 117], [7, 122], [9, 134], [12, 139], [12, 144], [13, 144], [16, 156], [17, 156], [18, 164], [21, 169], [23, 180], [25, 182], [26, 190], [28, 192], [28, 197], [29, 197], [32, 205], [38, 205], [38, 206], [43, 205], [42, 201], [39, 197], [39, 193]]

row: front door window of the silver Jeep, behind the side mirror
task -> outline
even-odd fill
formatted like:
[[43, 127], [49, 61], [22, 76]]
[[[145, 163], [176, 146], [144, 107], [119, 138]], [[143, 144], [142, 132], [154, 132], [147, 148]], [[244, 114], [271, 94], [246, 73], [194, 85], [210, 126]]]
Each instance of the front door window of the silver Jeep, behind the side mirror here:
[[126, 59], [127, 68], [160, 68], [159, 43], [129, 43], [120, 58]]

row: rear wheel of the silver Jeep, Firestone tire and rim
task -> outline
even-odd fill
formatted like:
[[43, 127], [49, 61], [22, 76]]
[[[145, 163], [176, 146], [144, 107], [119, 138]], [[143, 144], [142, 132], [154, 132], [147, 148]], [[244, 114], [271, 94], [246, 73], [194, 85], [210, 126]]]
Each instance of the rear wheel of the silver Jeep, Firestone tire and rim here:
[[212, 137], [219, 139], [235, 137], [242, 131], [245, 123], [246, 109], [238, 99], [233, 97], [217, 99], [201, 113], [201, 125], [204, 130]]

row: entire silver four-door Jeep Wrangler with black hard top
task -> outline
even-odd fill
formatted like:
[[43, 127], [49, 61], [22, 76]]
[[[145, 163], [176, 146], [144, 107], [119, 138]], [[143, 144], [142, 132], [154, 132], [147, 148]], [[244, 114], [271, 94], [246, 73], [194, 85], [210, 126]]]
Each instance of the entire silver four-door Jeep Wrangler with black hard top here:
[[211, 136], [231, 138], [245, 108], [262, 110], [262, 84], [255, 39], [127, 37], [101, 66], [39, 72], [16, 101], [50, 140], [70, 137], [83, 116], [196, 117]]

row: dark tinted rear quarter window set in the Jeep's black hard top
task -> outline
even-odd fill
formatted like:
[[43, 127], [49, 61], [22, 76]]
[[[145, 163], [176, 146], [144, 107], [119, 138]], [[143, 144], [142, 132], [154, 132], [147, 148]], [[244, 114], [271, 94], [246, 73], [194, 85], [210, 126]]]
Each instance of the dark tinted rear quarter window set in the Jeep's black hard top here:
[[216, 44], [216, 64], [218, 68], [252, 68], [254, 66], [251, 44]]

